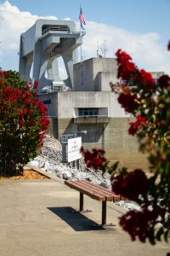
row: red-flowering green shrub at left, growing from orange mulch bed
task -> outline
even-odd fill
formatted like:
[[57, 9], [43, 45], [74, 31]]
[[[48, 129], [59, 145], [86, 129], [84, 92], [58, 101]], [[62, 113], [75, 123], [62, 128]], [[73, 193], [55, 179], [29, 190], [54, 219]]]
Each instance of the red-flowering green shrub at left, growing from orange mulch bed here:
[[0, 175], [22, 172], [42, 146], [49, 121], [37, 85], [20, 81], [14, 71], [0, 71]]

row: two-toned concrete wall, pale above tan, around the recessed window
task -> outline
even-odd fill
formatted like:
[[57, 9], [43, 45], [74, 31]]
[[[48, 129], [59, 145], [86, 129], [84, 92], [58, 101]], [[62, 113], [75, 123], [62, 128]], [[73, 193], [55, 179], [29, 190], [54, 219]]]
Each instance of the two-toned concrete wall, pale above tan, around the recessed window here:
[[[42, 95], [40, 98], [43, 101], [51, 99], [48, 114], [55, 113], [57, 117], [53, 120], [53, 129], [50, 128], [51, 133], [55, 132], [55, 137], [60, 139], [63, 134], [86, 130], [88, 133], [82, 135], [84, 148], [103, 148], [111, 163], [119, 160], [122, 166], [148, 170], [146, 156], [139, 153], [136, 137], [129, 136], [127, 132], [128, 122], [132, 118], [124, 113], [114, 93], [67, 91]], [[75, 108], [90, 107], [107, 108], [109, 118], [74, 117]]]

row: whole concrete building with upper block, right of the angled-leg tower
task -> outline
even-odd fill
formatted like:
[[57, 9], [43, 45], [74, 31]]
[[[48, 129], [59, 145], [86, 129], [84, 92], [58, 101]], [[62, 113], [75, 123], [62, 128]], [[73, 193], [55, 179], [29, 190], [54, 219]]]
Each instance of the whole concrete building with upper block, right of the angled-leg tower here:
[[139, 153], [137, 138], [128, 135], [129, 116], [118, 104], [109, 83], [116, 82], [116, 60], [92, 58], [74, 65], [74, 90], [40, 95], [47, 104], [51, 134], [88, 131], [82, 134], [85, 148], [103, 148], [106, 157], [122, 166], [148, 169], [146, 156]]

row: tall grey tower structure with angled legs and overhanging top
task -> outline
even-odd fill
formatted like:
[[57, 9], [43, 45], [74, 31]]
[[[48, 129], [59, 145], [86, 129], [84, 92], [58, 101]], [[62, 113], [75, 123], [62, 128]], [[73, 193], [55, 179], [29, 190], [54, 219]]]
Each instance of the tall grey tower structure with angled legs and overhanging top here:
[[[39, 82], [42, 88], [60, 88], [66, 85], [73, 89], [73, 64], [77, 62], [77, 47], [81, 34], [76, 32], [71, 20], [37, 20], [20, 35], [20, 79]], [[63, 58], [67, 79], [59, 78], [58, 58]], [[30, 73], [32, 71], [32, 79]]]

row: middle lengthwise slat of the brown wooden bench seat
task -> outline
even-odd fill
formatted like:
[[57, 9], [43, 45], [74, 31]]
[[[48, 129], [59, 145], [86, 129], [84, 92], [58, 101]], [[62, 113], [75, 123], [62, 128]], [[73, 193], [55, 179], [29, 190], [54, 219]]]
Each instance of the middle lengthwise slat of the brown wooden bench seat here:
[[95, 187], [92, 183], [86, 181], [76, 181], [74, 183], [81, 184], [84, 189], [90, 189], [92, 192], [96, 192], [99, 195], [105, 196], [105, 201], [113, 201], [113, 195], [110, 191], [105, 191], [102, 187]]

